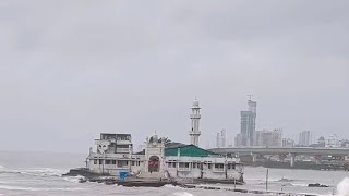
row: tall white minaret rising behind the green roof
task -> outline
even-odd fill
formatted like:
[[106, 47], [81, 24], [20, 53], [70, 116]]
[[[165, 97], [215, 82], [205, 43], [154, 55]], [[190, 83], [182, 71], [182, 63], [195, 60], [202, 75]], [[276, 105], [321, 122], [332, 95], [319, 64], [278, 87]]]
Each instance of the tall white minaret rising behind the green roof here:
[[200, 106], [198, 106], [198, 100], [195, 97], [195, 100], [192, 106], [192, 114], [190, 115], [190, 119], [192, 120], [192, 128], [189, 132], [190, 135], [190, 144], [198, 146], [198, 136], [201, 135], [201, 132], [198, 130], [200, 125]]

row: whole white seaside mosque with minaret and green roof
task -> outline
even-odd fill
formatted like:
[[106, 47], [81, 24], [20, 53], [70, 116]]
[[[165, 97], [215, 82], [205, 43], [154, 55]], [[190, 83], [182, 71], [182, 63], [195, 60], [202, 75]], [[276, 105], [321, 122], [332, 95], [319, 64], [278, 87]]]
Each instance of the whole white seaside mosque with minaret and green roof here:
[[191, 144], [167, 143], [155, 133], [146, 138], [143, 151], [133, 152], [131, 134], [101, 133], [89, 148], [87, 167], [95, 173], [119, 175], [128, 171], [144, 179], [191, 179], [197, 181], [243, 181], [243, 166], [238, 158], [222, 157], [198, 147], [200, 102], [191, 107]]

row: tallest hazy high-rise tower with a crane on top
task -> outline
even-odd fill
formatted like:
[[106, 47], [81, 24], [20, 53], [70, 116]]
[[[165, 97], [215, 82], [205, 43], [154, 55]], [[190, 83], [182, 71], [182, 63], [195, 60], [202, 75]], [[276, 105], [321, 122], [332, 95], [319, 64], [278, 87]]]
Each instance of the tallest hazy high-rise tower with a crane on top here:
[[253, 146], [255, 132], [256, 101], [249, 100], [249, 110], [241, 111], [241, 145]]

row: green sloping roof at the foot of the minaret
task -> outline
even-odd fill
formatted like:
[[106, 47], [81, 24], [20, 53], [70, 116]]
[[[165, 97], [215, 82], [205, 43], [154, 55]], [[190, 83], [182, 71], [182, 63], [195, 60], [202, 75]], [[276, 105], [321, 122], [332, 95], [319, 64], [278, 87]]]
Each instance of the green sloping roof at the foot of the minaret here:
[[180, 156], [181, 157], [212, 157], [212, 156], [218, 156], [217, 154], [214, 154], [212, 151], [205, 150], [203, 148], [198, 148], [194, 145], [186, 145], [186, 146], [180, 146], [180, 147], [173, 147], [173, 148], [166, 148], [165, 149], [165, 156], [177, 156], [178, 149], [180, 149]]

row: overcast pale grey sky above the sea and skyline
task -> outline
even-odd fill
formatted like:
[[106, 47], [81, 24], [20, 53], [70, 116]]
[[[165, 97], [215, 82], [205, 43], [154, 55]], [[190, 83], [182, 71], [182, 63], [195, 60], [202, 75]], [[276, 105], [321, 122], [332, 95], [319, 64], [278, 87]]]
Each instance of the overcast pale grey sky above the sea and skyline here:
[[0, 1], [0, 150], [88, 152], [99, 133], [189, 143], [256, 130], [349, 138], [346, 0]]

